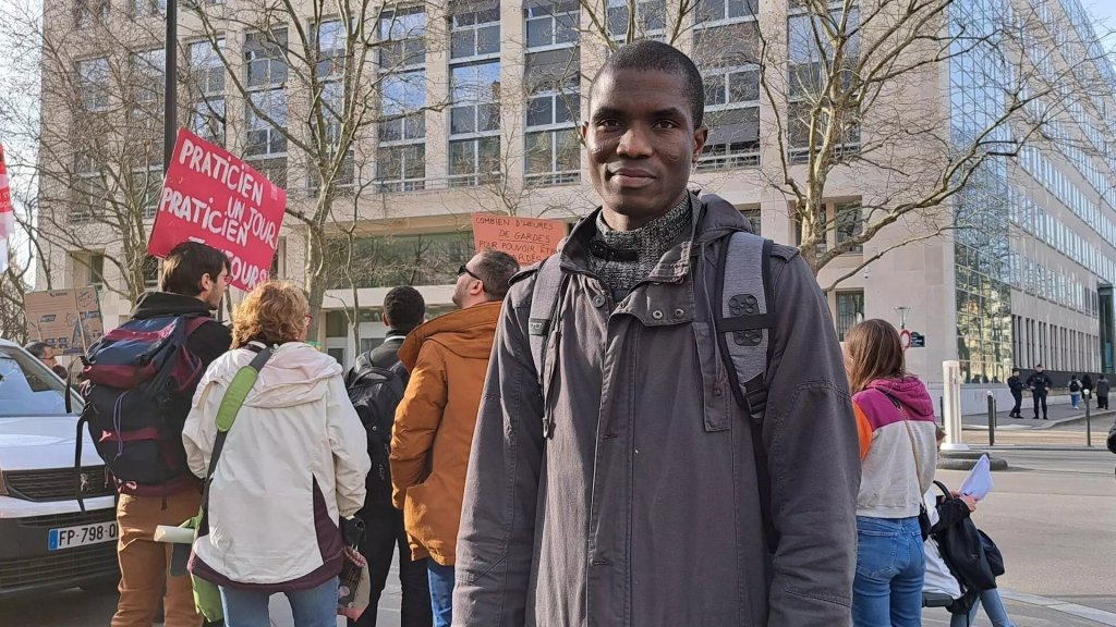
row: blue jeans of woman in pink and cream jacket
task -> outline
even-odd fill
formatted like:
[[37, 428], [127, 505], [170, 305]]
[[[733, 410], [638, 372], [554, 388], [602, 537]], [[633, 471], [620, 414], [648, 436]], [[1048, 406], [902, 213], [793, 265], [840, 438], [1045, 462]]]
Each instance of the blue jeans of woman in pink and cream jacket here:
[[920, 627], [926, 573], [918, 517], [856, 517], [853, 625]]

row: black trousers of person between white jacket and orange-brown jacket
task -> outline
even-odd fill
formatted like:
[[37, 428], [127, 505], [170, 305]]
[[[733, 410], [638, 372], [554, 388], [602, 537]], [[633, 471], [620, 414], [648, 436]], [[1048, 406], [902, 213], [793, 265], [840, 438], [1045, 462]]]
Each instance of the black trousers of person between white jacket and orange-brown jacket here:
[[402, 612], [403, 627], [431, 627], [434, 618], [430, 605], [430, 581], [426, 575], [426, 560], [413, 561], [411, 547], [407, 546], [407, 534], [403, 530], [403, 512], [392, 505], [365, 508], [357, 515], [364, 520], [365, 540], [360, 554], [368, 560], [368, 575], [372, 578], [372, 594], [368, 609], [356, 621], [349, 620], [349, 627], [376, 627], [376, 606], [379, 596], [387, 585], [387, 572], [392, 568], [392, 557], [395, 549], [400, 550], [400, 586], [403, 588]]

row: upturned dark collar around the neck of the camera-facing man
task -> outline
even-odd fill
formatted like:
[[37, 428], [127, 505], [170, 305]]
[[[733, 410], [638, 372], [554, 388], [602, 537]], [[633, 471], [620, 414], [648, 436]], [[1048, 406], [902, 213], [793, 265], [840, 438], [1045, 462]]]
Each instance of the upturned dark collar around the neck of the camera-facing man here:
[[[690, 205], [693, 208], [693, 223], [690, 237], [674, 245], [655, 264], [647, 276], [660, 282], [672, 282], [690, 273], [691, 259], [695, 245], [702, 247], [735, 231], [751, 232], [748, 219], [730, 202], [715, 194], [699, 196], [690, 192]], [[589, 270], [589, 242], [597, 232], [598, 206], [574, 225], [569, 238], [559, 251], [561, 268], [571, 272], [591, 273]]]

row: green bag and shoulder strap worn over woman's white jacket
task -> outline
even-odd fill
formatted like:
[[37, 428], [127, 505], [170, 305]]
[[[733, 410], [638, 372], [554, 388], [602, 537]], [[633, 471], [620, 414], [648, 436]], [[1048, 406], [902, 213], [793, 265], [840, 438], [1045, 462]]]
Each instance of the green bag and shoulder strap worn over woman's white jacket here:
[[[213, 443], [213, 454], [210, 455], [209, 472], [205, 473], [202, 507], [199, 508], [198, 515], [182, 523], [182, 527], [194, 530], [194, 542], [198, 542], [200, 538], [199, 531], [205, 530], [205, 533], [209, 533], [210, 483], [213, 481], [213, 470], [217, 469], [218, 460], [221, 459], [221, 451], [224, 448], [224, 441], [229, 436], [229, 430], [237, 422], [237, 414], [240, 412], [240, 406], [244, 404], [244, 398], [248, 397], [248, 393], [256, 385], [256, 379], [259, 377], [260, 370], [268, 363], [268, 359], [271, 358], [273, 348], [264, 348], [252, 358], [249, 365], [237, 370], [237, 374], [232, 377], [232, 383], [229, 384], [229, 389], [225, 390], [224, 397], [221, 398], [221, 406], [217, 411], [217, 441]], [[194, 587], [194, 607], [198, 608], [198, 614], [204, 616], [210, 623], [223, 620], [224, 608], [221, 606], [221, 591], [218, 589], [217, 583], [195, 575], [191, 575], [190, 580]]]

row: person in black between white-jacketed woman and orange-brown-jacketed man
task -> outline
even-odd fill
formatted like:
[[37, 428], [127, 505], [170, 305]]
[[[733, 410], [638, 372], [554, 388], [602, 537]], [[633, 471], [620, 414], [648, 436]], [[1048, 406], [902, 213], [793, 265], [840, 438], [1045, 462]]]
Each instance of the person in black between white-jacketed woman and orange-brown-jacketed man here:
[[368, 455], [372, 457], [367, 496], [357, 512], [365, 527], [360, 552], [368, 560], [371, 602], [359, 619], [348, 621], [349, 627], [376, 627], [376, 607], [387, 583], [396, 547], [400, 552], [400, 587], [403, 589], [401, 624], [403, 627], [430, 627], [433, 620], [427, 559], [411, 558], [403, 512], [392, 503], [388, 462], [395, 411], [407, 385], [407, 372], [398, 357], [400, 347], [425, 316], [426, 302], [419, 290], [410, 286], [392, 288], [384, 297], [382, 318], [387, 327], [384, 343], [357, 357], [356, 365], [345, 376], [349, 398], [368, 433]]

